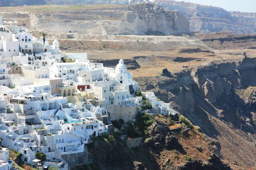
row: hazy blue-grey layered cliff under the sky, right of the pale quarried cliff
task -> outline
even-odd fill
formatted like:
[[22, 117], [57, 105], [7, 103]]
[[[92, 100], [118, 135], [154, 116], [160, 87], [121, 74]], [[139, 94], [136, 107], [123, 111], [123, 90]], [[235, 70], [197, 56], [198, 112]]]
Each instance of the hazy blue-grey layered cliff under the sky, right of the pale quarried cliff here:
[[169, 10], [180, 11], [189, 20], [190, 30], [193, 32], [230, 31], [236, 34], [256, 32], [253, 14], [228, 12], [223, 8], [168, 0], [156, 0], [155, 3]]

